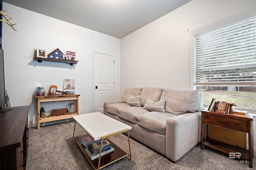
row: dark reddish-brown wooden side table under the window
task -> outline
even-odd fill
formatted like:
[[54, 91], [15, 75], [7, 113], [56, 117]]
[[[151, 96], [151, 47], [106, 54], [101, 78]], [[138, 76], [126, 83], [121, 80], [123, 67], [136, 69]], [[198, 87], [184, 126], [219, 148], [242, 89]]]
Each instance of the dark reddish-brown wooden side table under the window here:
[[[230, 152], [240, 152], [240, 158], [249, 161], [249, 166], [252, 168], [252, 158], [253, 158], [253, 115], [250, 117], [240, 117], [233, 114], [224, 114], [224, 113], [216, 113], [210, 112], [208, 110], [201, 111], [201, 149], [203, 149], [203, 145], [210, 147], [212, 149], [224, 152], [229, 154]], [[204, 123], [207, 124], [207, 135], [206, 140], [204, 141]], [[235, 147], [232, 145], [228, 145], [226, 143], [222, 143], [219, 141], [215, 141], [213, 139], [209, 139], [209, 126], [214, 125], [217, 127], [222, 127], [226, 129], [232, 129], [235, 131], [241, 131], [248, 133], [248, 144], [249, 150], [242, 149], [240, 147]]]

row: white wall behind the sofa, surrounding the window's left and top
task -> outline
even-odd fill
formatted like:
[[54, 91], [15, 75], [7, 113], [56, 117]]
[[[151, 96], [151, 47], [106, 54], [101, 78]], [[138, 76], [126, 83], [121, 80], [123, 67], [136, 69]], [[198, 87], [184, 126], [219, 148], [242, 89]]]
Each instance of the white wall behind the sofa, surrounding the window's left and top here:
[[255, 0], [192, 0], [121, 39], [126, 87], [191, 88], [192, 30], [255, 8]]

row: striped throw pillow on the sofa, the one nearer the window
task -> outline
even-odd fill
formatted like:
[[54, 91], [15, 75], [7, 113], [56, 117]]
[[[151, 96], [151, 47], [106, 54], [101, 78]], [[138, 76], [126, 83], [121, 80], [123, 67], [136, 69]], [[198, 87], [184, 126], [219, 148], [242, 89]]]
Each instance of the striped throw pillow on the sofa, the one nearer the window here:
[[154, 102], [153, 100], [150, 100], [147, 98], [146, 103], [143, 107], [143, 109], [147, 109], [149, 111], [160, 111], [165, 112], [165, 100], [159, 100], [158, 102]]

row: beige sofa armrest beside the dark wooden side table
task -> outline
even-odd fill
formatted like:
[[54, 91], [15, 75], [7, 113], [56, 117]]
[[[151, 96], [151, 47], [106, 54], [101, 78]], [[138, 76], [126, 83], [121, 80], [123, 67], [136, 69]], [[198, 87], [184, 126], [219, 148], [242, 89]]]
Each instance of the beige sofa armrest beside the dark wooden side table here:
[[174, 162], [200, 142], [201, 112], [185, 113], [166, 120], [166, 157]]

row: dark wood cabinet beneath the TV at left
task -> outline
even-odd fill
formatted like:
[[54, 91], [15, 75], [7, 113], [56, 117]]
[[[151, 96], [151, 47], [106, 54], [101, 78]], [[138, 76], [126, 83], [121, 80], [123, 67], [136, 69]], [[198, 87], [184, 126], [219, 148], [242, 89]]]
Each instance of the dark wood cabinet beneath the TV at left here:
[[29, 106], [12, 107], [0, 120], [0, 169], [26, 170]]

